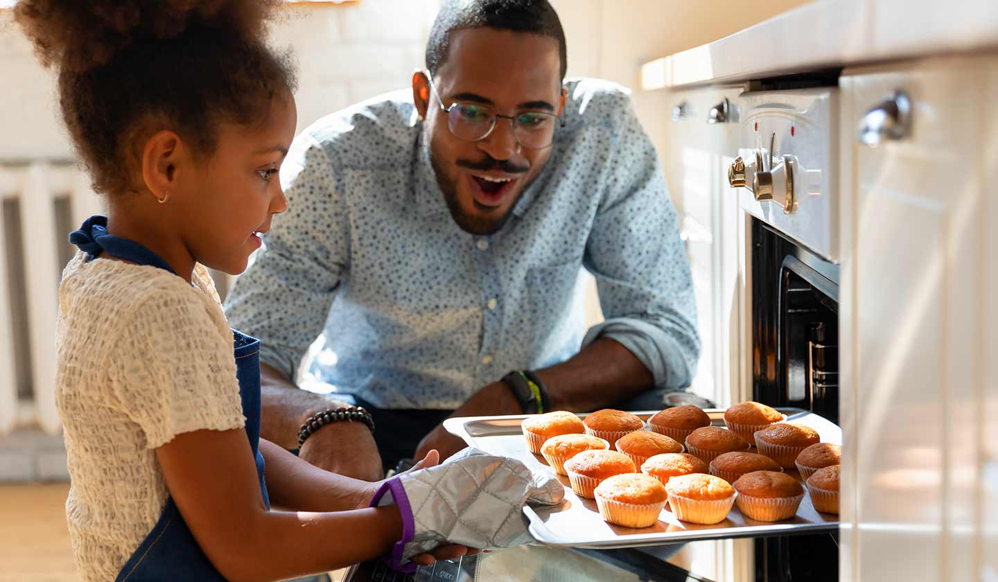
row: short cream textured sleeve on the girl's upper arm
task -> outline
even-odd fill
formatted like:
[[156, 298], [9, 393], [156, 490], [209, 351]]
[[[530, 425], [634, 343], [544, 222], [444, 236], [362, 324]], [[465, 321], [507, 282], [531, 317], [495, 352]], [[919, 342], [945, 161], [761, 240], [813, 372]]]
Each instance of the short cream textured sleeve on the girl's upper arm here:
[[119, 327], [114, 391], [147, 448], [185, 432], [245, 426], [232, 332], [220, 323], [221, 306], [201, 292], [189, 288], [143, 300]]

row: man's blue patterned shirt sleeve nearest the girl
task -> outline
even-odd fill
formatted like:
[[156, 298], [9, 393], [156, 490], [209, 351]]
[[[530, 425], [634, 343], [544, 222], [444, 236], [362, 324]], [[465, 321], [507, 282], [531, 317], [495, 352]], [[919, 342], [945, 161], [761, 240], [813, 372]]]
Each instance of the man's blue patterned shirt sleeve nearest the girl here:
[[233, 327], [259, 338], [260, 361], [293, 378], [322, 332], [349, 266], [349, 221], [332, 165], [308, 134], [280, 168], [287, 211], [273, 218], [263, 247], [226, 301]]

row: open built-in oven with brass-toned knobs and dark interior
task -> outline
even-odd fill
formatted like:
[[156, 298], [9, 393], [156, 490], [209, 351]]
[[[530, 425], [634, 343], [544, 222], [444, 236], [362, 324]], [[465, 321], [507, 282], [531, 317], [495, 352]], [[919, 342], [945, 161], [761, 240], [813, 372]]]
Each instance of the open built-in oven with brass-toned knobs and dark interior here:
[[[740, 156], [729, 171], [747, 216], [752, 399], [836, 424], [837, 98], [828, 86], [744, 93]], [[753, 545], [758, 582], [838, 580], [837, 531]]]

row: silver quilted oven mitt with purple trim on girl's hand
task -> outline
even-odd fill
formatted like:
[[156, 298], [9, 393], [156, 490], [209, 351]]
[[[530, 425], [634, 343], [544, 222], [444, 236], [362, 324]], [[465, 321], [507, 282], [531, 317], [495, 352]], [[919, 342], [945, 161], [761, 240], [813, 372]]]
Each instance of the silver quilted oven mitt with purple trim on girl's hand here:
[[488, 549], [530, 542], [524, 504], [556, 505], [564, 496], [564, 486], [554, 477], [469, 447], [439, 465], [388, 479], [370, 505], [398, 505], [402, 539], [389, 561], [411, 572], [415, 564], [408, 558], [442, 544]]

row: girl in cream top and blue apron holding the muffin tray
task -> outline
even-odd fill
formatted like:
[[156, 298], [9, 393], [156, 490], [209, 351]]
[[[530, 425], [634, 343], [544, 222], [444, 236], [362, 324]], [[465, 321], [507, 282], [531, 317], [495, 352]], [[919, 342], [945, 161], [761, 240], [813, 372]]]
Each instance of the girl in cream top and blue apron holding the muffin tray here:
[[[277, 173], [296, 123], [294, 77], [263, 40], [280, 3], [14, 9], [58, 70], [69, 134], [109, 210], [71, 235], [80, 251], [59, 291], [66, 511], [84, 580], [277, 580], [383, 554], [396, 540], [398, 564], [467, 551], [437, 547], [445, 528], [432, 518], [414, 524], [411, 474], [375, 496], [378, 483], [259, 439], [258, 341], [230, 330], [202, 266], [242, 272], [286, 207]], [[434, 473], [420, 500], [452, 491], [460, 501], [481, 485], [469, 470], [452, 473]], [[382, 505], [366, 507], [372, 497]], [[503, 543], [481, 545], [494, 541]]]

